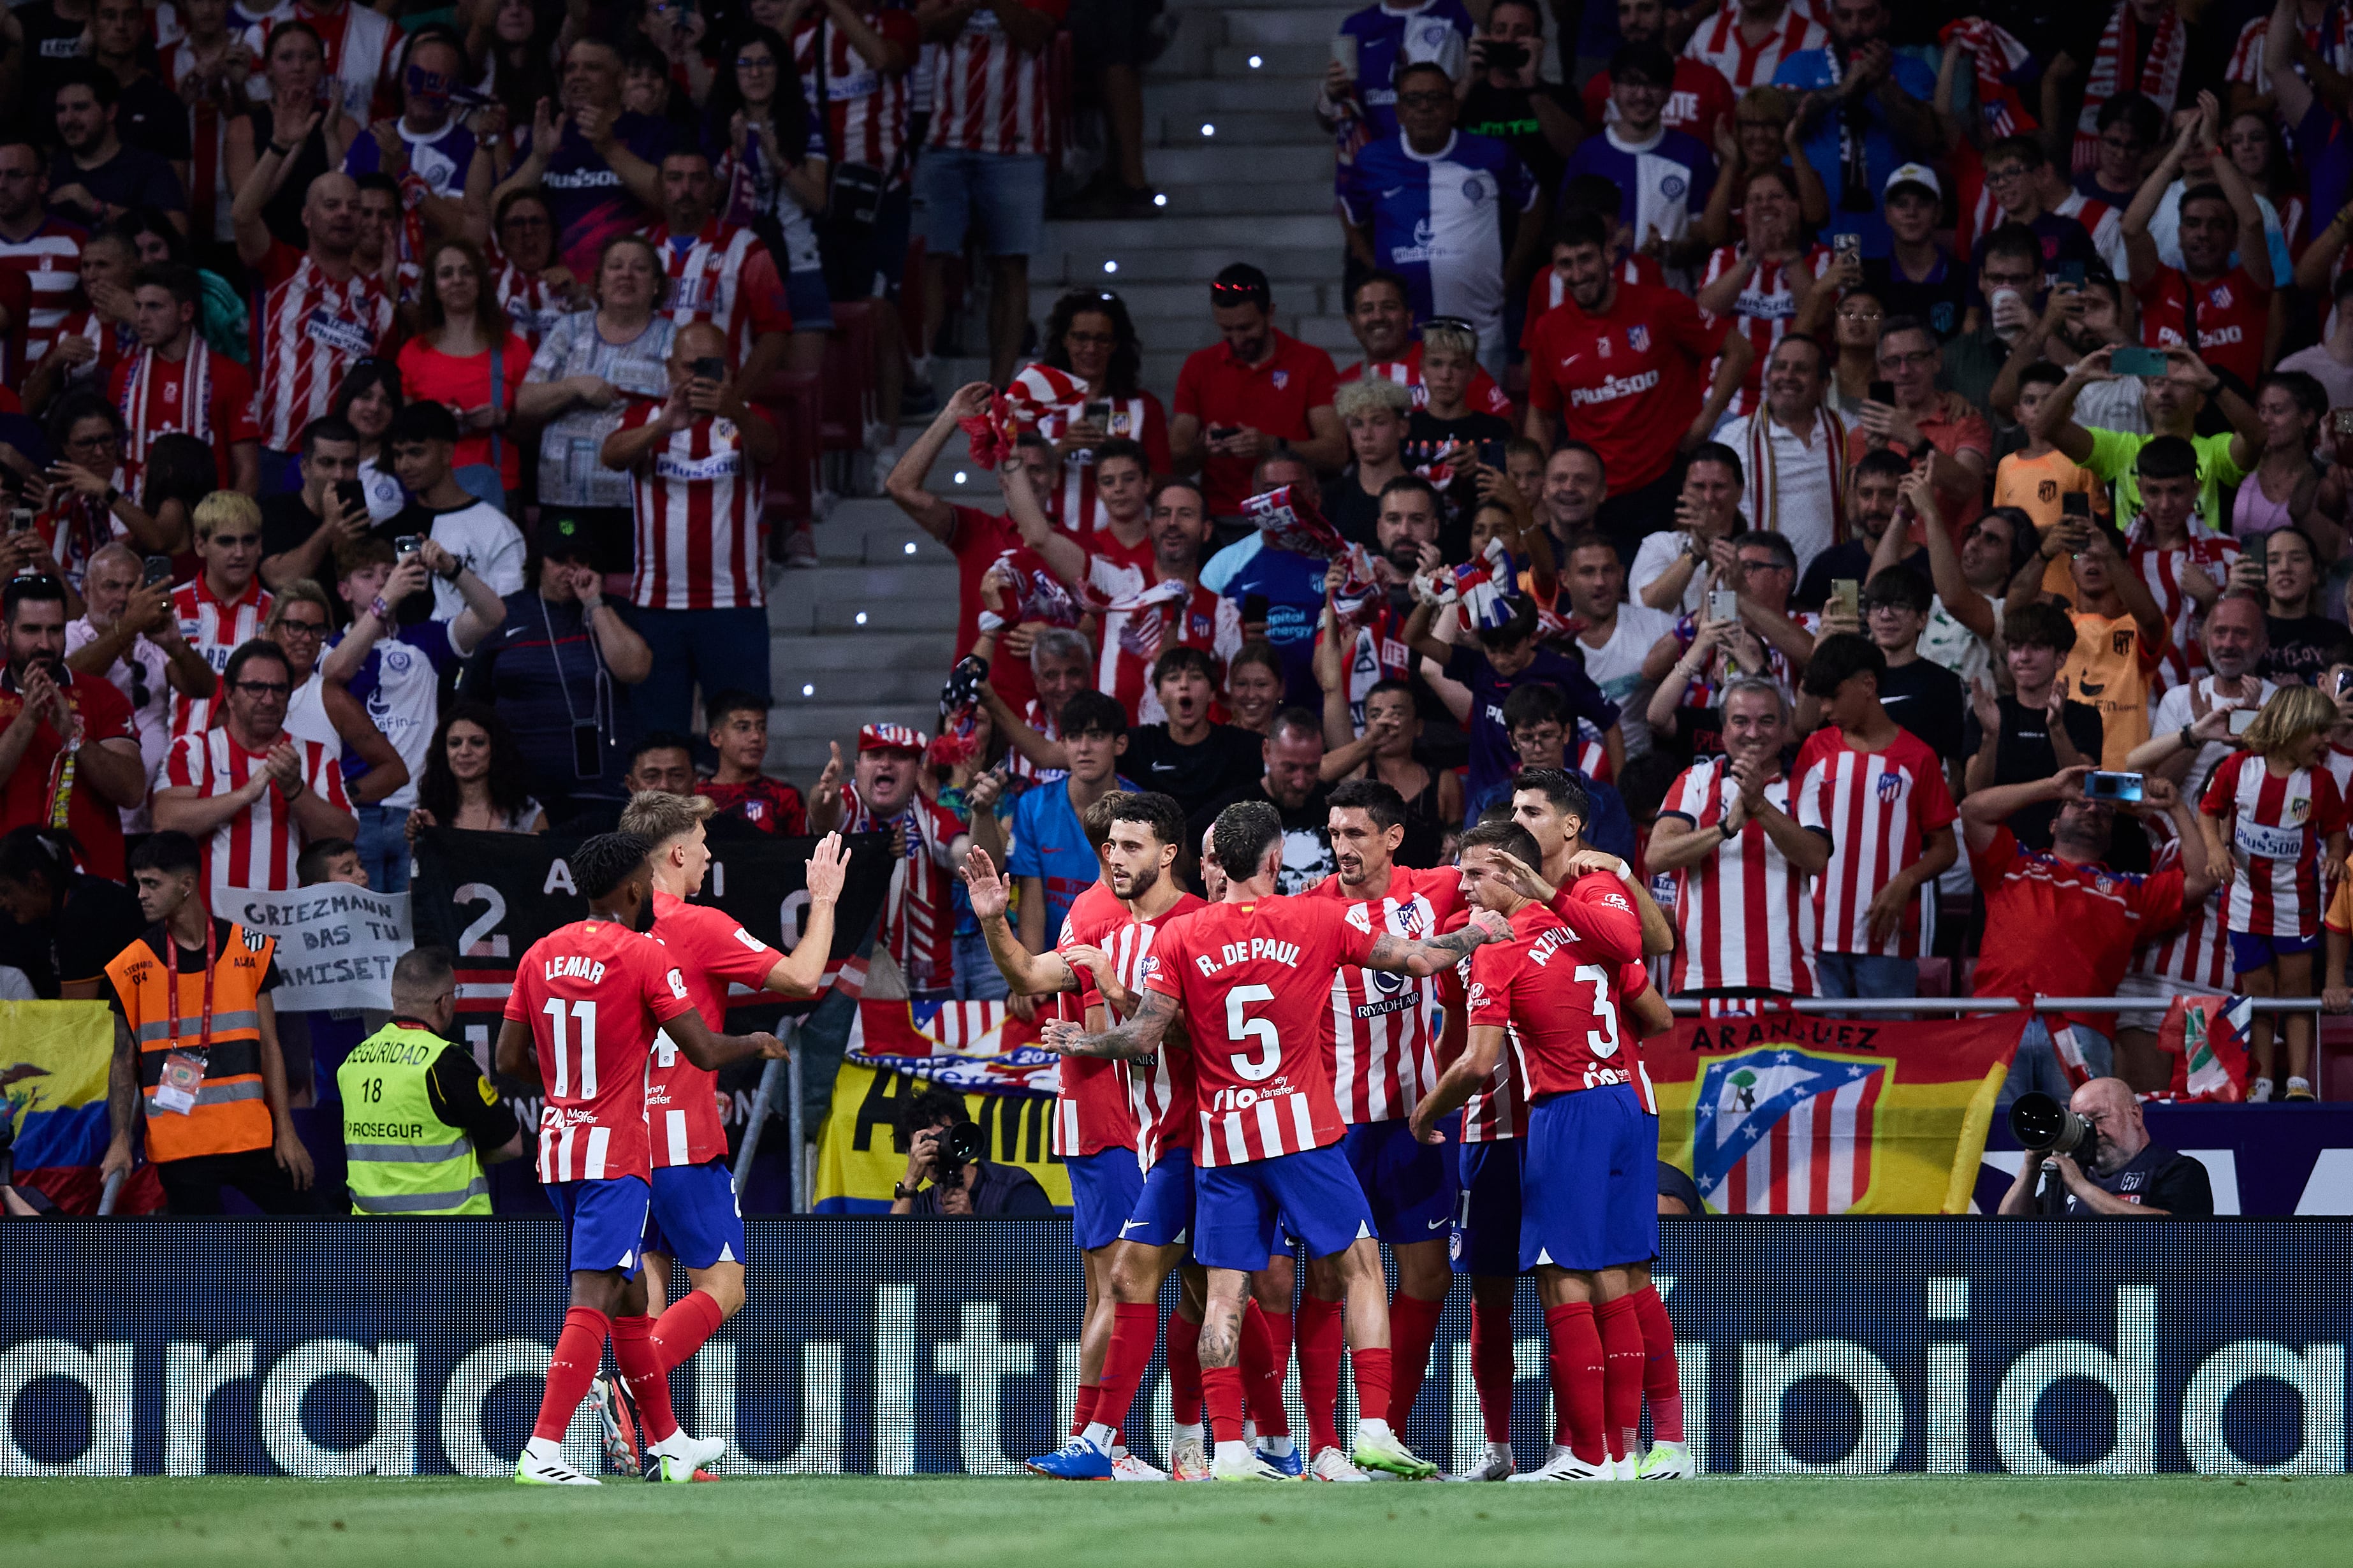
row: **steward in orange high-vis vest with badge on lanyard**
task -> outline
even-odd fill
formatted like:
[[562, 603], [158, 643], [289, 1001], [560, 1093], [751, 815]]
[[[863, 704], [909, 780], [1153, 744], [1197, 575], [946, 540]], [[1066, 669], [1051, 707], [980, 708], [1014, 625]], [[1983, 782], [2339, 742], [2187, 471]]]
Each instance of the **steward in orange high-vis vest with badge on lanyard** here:
[[155, 924], [106, 966], [113, 1140], [99, 1175], [132, 1168], [132, 1128], [144, 1124], [172, 1213], [224, 1213], [221, 1187], [261, 1213], [318, 1213], [268, 997], [278, 943], [212, 919], [205, 856], [184, 832], [151, 837], [129, 870], [139, 912]]

